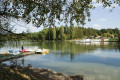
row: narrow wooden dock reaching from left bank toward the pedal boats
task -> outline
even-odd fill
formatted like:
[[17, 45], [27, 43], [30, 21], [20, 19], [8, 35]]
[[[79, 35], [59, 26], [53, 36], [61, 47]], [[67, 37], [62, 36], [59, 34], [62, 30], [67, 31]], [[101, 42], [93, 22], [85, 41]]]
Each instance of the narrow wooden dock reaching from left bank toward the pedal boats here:
[[16, 59], [16, 58], [20, 58], [20, 57], [27, 56], [27, 55], [32, 55], [32, 54], [35, 54], [35, 52], [21, 53], [21, 54], [18, 54], [18, 55], [4, 55], [4, 54], [0, 54], [0, 63], [4, 62], [4, 61], [11, 60], [11, 59]]

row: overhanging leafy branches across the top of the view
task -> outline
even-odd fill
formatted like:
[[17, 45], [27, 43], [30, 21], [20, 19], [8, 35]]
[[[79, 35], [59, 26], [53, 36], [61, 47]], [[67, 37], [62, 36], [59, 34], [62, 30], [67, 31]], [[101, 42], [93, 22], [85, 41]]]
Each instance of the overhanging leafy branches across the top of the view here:
[[[120, 5], [120, 0], [96, 0], [100, 2], [103, 7]], [[1, 0], [0, 7], [1, 16], [22, 18], [40, 27], [54, 25], [55, 19], [65, 23], [75, 20], [84, 25], [87, 18], [90, 21], [90, 9], [95, 6], [92, 0]]]

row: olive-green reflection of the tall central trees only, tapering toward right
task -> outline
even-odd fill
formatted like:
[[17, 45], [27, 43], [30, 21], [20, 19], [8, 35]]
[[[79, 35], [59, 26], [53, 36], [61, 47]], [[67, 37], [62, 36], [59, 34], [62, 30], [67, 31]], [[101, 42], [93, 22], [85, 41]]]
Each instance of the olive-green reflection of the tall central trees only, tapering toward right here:
[[84, 45], [84, 44], [75, 44], [71, 42], [42, 42], [40, 47], [48, 48], [52, 50], [52, 53], [55, 55], [61, 54], [62, 57], [70, 54], [71, 61], [74, 59], [76, 54], [84, 54], [86, 52], [92, 52], [96, 50], [99, 46], [97, 45]]

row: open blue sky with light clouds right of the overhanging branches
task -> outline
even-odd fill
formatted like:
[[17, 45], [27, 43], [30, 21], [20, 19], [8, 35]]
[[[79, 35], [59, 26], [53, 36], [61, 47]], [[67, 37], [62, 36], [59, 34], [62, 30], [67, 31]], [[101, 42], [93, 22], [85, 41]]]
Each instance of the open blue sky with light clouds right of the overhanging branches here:
[[[91, 10], [91, 22], [86, 21], [85, 27], [95, 29], [119, 28], [120, 29], [120, 7], [116, 4], [114, 9], [111, 7], [103, 8], [102, 3], [95, 3], [96, 8]], [[112, 12], [110, 10], [112, 9]]]

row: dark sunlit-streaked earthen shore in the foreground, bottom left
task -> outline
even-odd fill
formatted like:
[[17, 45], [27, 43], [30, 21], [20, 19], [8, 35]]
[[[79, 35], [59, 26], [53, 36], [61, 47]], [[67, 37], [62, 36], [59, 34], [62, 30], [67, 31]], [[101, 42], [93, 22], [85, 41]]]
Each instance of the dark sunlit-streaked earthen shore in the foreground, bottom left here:
[[[17, 79], [19, 77], [19, 79]], [[82, 75], [68, 76], [44, 68], [7, 66], [0, 63], [0, 80], [85, 80]]]

